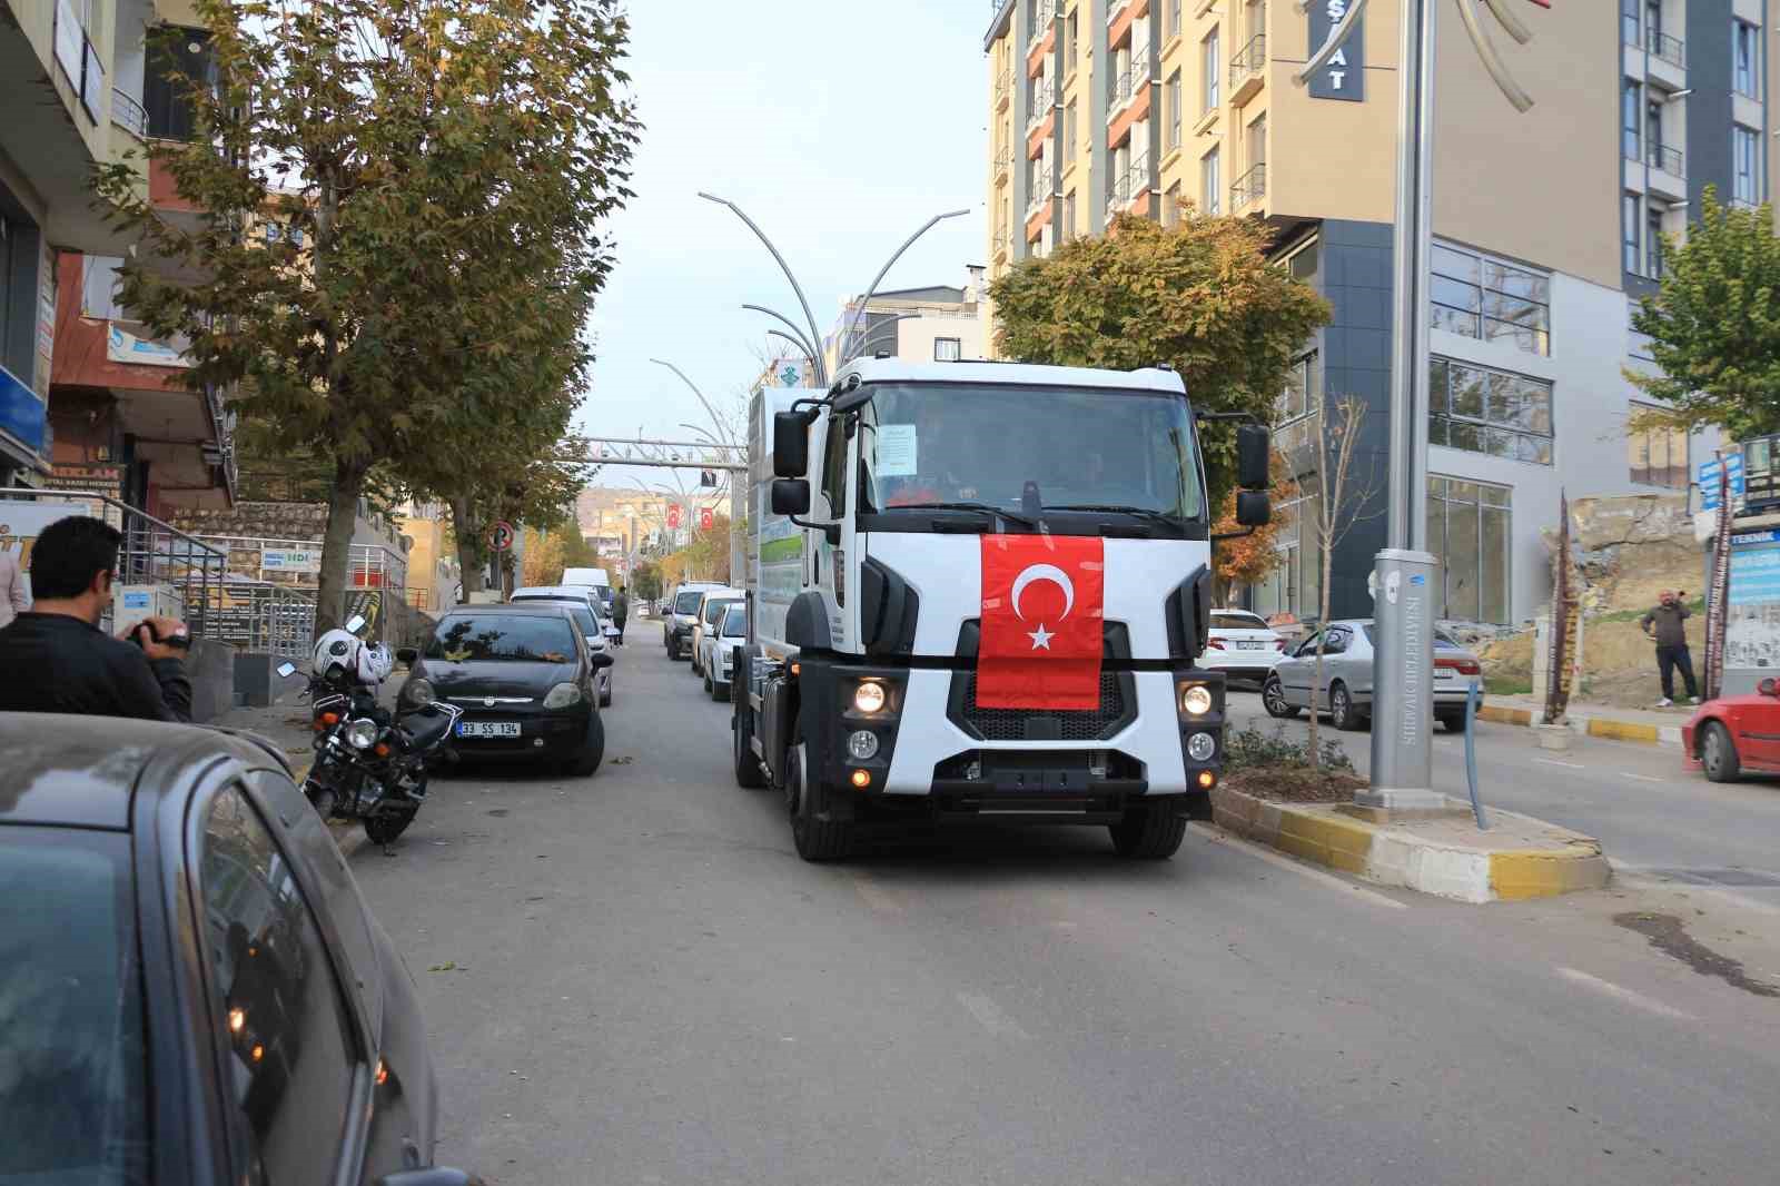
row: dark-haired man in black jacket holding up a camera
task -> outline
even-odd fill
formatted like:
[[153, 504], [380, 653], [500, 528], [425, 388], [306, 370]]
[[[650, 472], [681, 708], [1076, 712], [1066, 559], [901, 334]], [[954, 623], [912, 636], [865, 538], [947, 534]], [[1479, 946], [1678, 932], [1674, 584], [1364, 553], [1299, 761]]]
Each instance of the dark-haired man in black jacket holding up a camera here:
[[190, 721], [192, 682], [185, 623], [146, 618], [109, 638], [100, 618], [112, 602], [123, 534], [91, 515], [43, 529], [30, 552], [34, 604], [0, 630], [0, 712], [75, 712]]

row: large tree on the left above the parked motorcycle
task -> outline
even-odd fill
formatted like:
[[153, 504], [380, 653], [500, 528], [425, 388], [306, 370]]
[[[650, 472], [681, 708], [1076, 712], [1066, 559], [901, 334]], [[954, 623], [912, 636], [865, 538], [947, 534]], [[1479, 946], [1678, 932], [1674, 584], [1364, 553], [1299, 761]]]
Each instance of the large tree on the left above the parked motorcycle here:
[[596, 228], [628, 196], [637, 139], [614, 94], [628, 25], [618, 0], [196, 9], [212, 66], [185, 80], [196, 134], [151, 155], [198, 214], [164, 217], [134, 162], [100, 169], [144, 248], [121, 299], [190, 340], [190, 383], [235, 390], [276, 447], [331, 465], [326, 629], [376, 467], [441, 491], [443, 458], [536, 440], [578, 390], [611, 269]]

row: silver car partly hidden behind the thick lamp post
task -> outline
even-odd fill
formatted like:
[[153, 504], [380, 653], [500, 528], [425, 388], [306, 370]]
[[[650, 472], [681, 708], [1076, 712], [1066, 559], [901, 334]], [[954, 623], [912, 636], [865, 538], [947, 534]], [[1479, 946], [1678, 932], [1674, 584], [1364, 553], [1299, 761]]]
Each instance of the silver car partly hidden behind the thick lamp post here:
[[[1260, 686], [1260, 703], [1269, 716], [1298, 716], [1312, 707], [1317, 639], [1323, 639], [1323, 686], [1315, 711], [1328, 712], [1335, 728], [1365, 728], [1372, 716], [1372, 621], [1330, 621], [1298, 643]], [[1465, 728], [1465, 696], [1483, 680], [1483, 664], [1444, 630], [1435, 630], [1435, 719], [1447, 730]]]

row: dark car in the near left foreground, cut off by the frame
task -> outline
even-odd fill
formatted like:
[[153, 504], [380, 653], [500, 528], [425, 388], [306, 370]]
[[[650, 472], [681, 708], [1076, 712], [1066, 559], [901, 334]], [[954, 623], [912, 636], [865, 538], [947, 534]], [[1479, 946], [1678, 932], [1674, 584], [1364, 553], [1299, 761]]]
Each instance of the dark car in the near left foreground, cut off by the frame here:
[[475, 1179], [413, 978], [267, 743], [0, 714], [0, 1182]]

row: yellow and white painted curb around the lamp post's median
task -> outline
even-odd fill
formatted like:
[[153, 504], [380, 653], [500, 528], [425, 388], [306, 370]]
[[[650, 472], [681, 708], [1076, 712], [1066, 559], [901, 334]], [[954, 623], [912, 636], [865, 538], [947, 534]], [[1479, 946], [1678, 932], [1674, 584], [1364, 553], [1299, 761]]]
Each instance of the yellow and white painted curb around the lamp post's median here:
[[1226, 785], [1212, 787], [1212, 819], [1248, 841], [1374, 885], [1468, 903], [1602, 889], [1613, 874], [1598, 841], [1552, 825], [1543, 826], [1568, 837], [1563, 848], [1486, 851], [1371, 825], [1330, 807], [1273, 803]]

